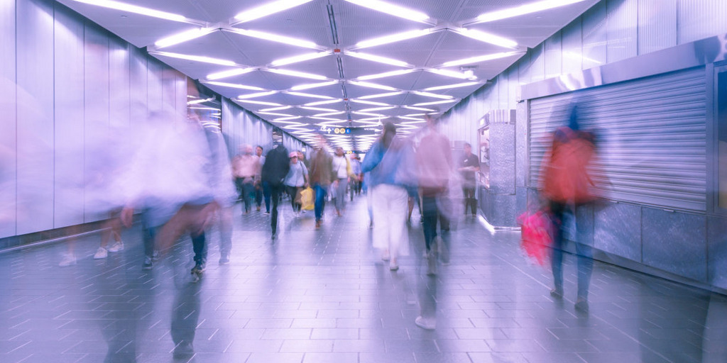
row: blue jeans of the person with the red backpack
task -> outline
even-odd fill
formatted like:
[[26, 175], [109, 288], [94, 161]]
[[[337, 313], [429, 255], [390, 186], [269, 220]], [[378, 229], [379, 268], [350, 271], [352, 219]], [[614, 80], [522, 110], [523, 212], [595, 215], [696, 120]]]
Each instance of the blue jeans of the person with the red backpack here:
[[[550, 213], [553, 218], [553, 257], [550, 259], [553, 269], [553, 285], [555, 290], [563, 291], [563, 246], [566, 241], [563, 239], [563, 217], [566, 216], [566, 205], [563, 203], [550, 203]], [[573, 218], [573, 215], [570, 214]], [[588, 286], [593, 272], [593, 249], [589, 245], [576, 243], [576, 254], [578, 258], [578, 298], [587, 300]]]

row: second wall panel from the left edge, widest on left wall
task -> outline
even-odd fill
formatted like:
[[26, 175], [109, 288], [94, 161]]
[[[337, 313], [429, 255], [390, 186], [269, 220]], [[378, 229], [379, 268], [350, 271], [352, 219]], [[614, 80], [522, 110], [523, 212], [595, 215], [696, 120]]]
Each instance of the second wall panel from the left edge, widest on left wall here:
[[17, 1], [18, 234], [53, 228], [53, 4]]

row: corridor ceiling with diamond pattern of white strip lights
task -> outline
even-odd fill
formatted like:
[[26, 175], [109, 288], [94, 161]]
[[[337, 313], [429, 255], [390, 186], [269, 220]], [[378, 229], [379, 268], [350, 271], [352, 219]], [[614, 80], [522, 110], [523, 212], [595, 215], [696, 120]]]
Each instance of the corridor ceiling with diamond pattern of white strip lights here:
[[[366, 1], [369, 2], [364, 4], [381, 0]], [[366, 126], [370, 129], [379, 120], [397, 123], [402, 126], [404, 134], [411, 132], [411, 127], [421, 125], [416, 122], [422, 120], [424, 113], [436, 115], [446, 112], [456, 105], [459, 99], [472, 94], [486, 81], [507, 69], [529, 47], [537, 46], [545, 41], [547, 37], [570, 23], [598, 0], [582, 0], [555, 9], [486, 23], [475, 23], [473, 20], [487, 12], [521, 5], [532, 9], [534, 0], [383, 0], [385, 4], [377, 6], [375, 10], [354, 4], [357, 2], [354, 0], [297, 0], [298, 3], [305, 4], [238, 24], [234, 18], [236, 15], [273, 3], [274, 0], [116, 1], [117, 4], [130, 4], [182, 15], [186, 19], [181, 21], [98, 6], [103, 5], [100, 4], [103, 2], [113, 3], [108, 0], [58, 0], [58, 2], [111, 30], [129, 43], [138, 47], [147, 47], [148, 52], [154, 57], [191, 78], [206, 83], [209, 88], [225, 97], [239, 101], [237, 97], [241, 95], [256, 96], [254, 94], [269, 91], [271, 94], [252, 97], [249, 98], [249, 102], [240, 101], [238, 104], [281, 128], [286, 127], [286, 131], [310, 130], [310, 134], [296, 133], [295, 136], [313, 142], [313, 132], [319, 131], [321, 126]], [[571, 2], [573, 1], [571, 0]], [[425, 13], [429, 19], [418, 22], [397, 17], [392, 14], [393, 10], [385, 12], [386, 4], [394, 4], [411, 11]], [[276, 9], [279, 8], [280, 6], [276, 7]], [[208, 28], [209, 33], [180, 44], [155, 45], [160, 39], [199, 28]], [[498, 46], [469, 38], [457, 31], [462, 28], [479, 30], [506, 38], [516, 42], [516, 45]], [[427, 32], [427, 29], [430, 31]], [[271, 41], [269, 38], [249, 36], [247, 30], [286, 36], [300, 41], [294, 41], [294, 45], [284, 44]], [[357, 49], [357, 44], [361, 41], [416, 30], [423, 30], [426, 35]], [[492, 37], [487, 39], [491, 40]], [[273, 63], [276, 60], [319, 52], [324, 53], [313, 60], [293, 62], [287, 65]], [[406, 62], [406, 64], [396, 64], [396, 62], [387, 64], [386, 61], [375, 62], [361, 59], [353, 57], [351, 55], [353, 52], [387, 57]], [[230, 64], [210, 64], [198, 60], [169, 57], [164, 53], [212, 57], [228, 60]], [[446, 62], [454, 60], [500, 53], [508, 55], [492, 60], [468, 60], [462, 62], [461, 65], [446, 65]], [[244, 68], [251, 68], [251, 71], [214, 81], [252, 86], [256, 89], [240, 89], [208, 83], [212, 81], [209, 79], [209, 75], [213, 73]], [[472, 70], [470, 77], [463, 75], [463, 71], [468, 69]], [[278, 70], [309, 73], [315, 75], [310, 77], [318, 79], [274, 73]], [[409, 73], [364, 81], [368, 83], [356, 83], [358, 77], [403, 70], [409, 70]], [[436, 73], [439, 70], [449, 71], [450, 74]], [[322, 82], [332, 84], [298, 91], [303, 94], [291, 93], [296, 91], [292, 90], [294, 86]], [[425, 90], [430, 87], [459, 83], [469, 84], [450, 89]], [[417, 91], [425, 91], [430, 94], [415, 94], [414, 92]], [[391, 94], [392, 92], [398, 94]], [[390, 95], [376, 97], [379, 94]], [[446, 99], [447, 97], [449, 99]], [[310, 102], [326, 100], [332, 102], [339, 100], [339, 102], [312, 106], [325, 110], [301, 108]], [[426, 105], [437, 101], [441, 101], [441, 103]], [[425, 105], [420, 105], [422, 103]], [[292, 107], [285, 110], [265, 111], [271, 107], [282, 106]], [[387, 107], [387, 109], [369, 110], [379, 107]], [[406, 107], [423, 107], [426, 110]], [[329, 115], [330, 113], [337, 114]], [[289, 119], [290, 117], [297, 118]], [[358, 122], [360, 120], [364, 121]], [[371, 142], [370, 138], [346, 137], [350, 138], [348, 142], [341, 135], [330, 136], [329, 140], [333, 144], [353, 142], [356, 150], [368, 149]], [[366, 139], [369, 140], [366, 141]]]

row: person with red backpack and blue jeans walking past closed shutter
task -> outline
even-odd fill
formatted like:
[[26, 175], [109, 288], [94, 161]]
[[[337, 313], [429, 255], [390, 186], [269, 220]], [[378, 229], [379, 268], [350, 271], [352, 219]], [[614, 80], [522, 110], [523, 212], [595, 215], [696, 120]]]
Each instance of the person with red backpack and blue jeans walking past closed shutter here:
[[[544, 158], [542, 196], [553, 221], [553, 284], [554, 298], [563, 298], [563, 219], [574, 218], [576, 209], [595, 200], [595, 183], [588, 166], [595, 153], [595, 136], [581, 131], [577, 107], [571, 110], [568, 126], [555, 130], [553, 144]], [[593, 251], [576, 242], [578, 255], [577, 311], [588, 311], [588, 287], [593, 272]]]

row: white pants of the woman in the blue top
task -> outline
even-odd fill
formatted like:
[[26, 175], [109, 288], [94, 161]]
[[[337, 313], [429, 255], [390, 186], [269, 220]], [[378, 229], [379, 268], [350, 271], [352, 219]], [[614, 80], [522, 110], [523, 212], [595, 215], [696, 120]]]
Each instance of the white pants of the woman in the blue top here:
[[379, 184], [369, 190], [374, 212], [374, 248], [388, 249], [392, 258], [409, 256], [406, 213], [409, 194], [403, 187]]

